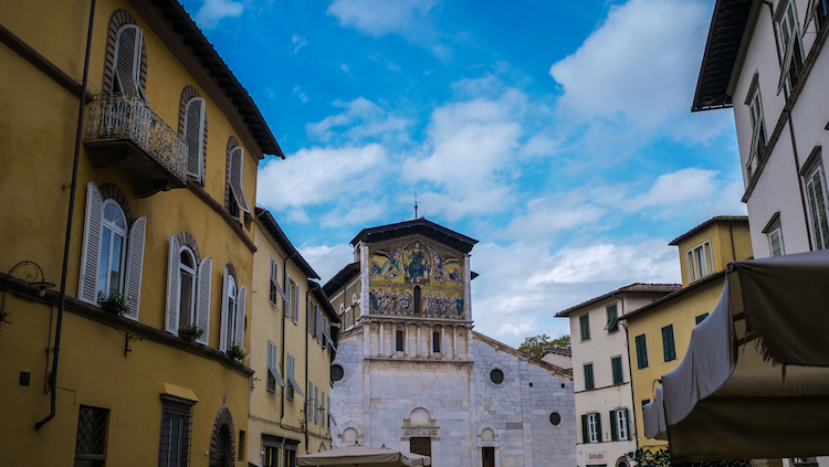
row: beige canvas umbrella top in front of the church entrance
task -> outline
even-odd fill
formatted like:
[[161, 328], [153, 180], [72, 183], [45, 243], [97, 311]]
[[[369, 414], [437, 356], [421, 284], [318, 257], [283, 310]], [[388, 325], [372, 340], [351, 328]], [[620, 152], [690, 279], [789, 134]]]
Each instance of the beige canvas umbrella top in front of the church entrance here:
[[349, 446], [298, 456], [296, 465], [316, 467], [410, 467], [430, 466], [432, 463], [429, 456], [389, 449], [388, 447]]

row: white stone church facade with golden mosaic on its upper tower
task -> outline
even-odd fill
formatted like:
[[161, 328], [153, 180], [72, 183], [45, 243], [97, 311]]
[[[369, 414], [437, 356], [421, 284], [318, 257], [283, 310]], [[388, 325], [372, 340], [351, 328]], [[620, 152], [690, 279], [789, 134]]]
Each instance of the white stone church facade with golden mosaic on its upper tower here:
[[361, 231], [325, 285], [343, 320], [333, 446], [387, 446], [433, 466], [573, 466], [571, 372], [473, 330], [475, 240], [426, 219]]

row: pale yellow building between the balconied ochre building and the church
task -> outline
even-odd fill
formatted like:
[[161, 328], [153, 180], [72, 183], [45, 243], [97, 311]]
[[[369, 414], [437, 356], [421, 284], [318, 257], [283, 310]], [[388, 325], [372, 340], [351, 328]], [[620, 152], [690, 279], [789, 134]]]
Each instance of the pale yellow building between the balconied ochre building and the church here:
[[330, 449], [330, 362], [339, 322], [319, 276], [270, 212], [256, 208], [248, 458], [291, 467]]

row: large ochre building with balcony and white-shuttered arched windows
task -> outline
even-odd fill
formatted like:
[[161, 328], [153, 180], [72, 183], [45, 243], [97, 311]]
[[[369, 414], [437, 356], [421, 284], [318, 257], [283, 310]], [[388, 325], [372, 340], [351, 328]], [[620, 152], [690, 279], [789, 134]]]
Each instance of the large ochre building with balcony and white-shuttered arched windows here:
[[0, 42], [2, 463], [245, 466], [267, 125], [175, 0], [0, 2]]

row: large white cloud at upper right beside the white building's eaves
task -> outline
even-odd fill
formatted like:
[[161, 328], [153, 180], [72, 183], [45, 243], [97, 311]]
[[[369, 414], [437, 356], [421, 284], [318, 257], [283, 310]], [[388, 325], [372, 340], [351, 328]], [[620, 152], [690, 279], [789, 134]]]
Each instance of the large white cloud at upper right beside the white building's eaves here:
[[[711, 7], [696, 0], [630, 0], [549, 74], [563, 110], [640, 128], [686, 119]], [[724, 121], [724, 120], [723, 120]], [[694, 135], [684, 135], [694, 137]]]

